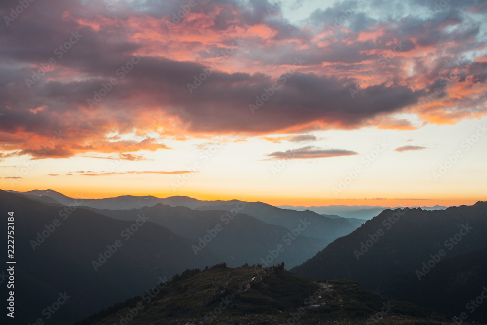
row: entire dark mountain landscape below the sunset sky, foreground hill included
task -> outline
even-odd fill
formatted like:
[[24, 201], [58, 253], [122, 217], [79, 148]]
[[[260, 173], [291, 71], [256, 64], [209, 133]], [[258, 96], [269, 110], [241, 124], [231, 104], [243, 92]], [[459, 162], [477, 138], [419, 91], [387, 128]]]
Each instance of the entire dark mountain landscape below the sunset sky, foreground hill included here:
[[[296, 309], [310, 324], [447, 324], [434, 312], [487, 321], [478, 303], [487, 294], [486, 202], [385, 209], [367, 221], [350, 217], [360, 209], [346, 218], [262, 202], [79, 199], [53, 190], [0, 191], [0, 207], [4, 216], [15, 212], [16, 322], [24, 324], [89, 315], [79, 324], [120, 324], [144, 292], [170, 278], [157, 299], [143, 302], [136, 324], [278, 324]], [[0, 246], [6, 251], [5, 241]], [[326, 292], [304, 303], [326, 281]], [[225, 318], [209, 319], [225, 294], [235, 299]], [[60, 297], [63, 307], [46, 312]], [[399, 307], [375, 319], [391, 301]]]

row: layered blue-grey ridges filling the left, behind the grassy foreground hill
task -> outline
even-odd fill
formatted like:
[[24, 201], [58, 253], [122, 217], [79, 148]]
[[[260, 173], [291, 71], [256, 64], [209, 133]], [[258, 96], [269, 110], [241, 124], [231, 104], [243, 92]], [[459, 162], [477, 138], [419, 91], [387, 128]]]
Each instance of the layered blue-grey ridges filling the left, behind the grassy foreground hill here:
[[[45, 320], [46, 301], [56, 302], [59, 293], [66, 293], [70, 298], [49, 321], [67, 324], [140, 294], [160, 278], [170, 278], [188, 268], [220, 262], [273, 265], [284, 261], [296, 266], [329, 242], [304, 235], [310, 224], [308, 214], [298, 214], [292, 219], [292, 227], [289, 223], [292, 229], [287, 229], [240, 211], [234, 215], [231, 209], [228, 213], [179, 206], [182, 202], [194, 202], [193, 207], [202, 205], [202, 201], [190, 198], [166, 200], [176, 207], [158, 203], [157, 198], [150, 207], [145, 202], [134, 203], [146, 199], [151, 200], [126, 196], [115, 198], [115, 203], [106, 201], [111, 207], [139, 204], [139, 209], [99, 210], [81, 206], [98, 204], [98, 200], [70, 198], [52, 190], [1, 191], [4, 214], [14, 211], [16, 217], [19, 301], [30, 306], [19, 307], [19, 319], [26, 324], [38, 318]], [[239, 201], [208, 204], [229, 202]], [[144, 222], [140, 216], [144, 216]], [[137, 222], [140, 225], [134, 227]], [[137, 231], [125, 231], [131, 227]], [[296, 229], [301, 230], [293, 232]], [[121, 247], [116, 247], [117, 240]]]

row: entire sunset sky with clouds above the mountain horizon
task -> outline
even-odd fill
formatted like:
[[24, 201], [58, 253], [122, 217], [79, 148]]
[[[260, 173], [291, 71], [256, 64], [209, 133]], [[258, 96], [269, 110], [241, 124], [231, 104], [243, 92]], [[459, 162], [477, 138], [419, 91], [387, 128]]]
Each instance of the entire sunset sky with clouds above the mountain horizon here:
[[5, 0], [0, 188], [487, 199], [487, 3]]

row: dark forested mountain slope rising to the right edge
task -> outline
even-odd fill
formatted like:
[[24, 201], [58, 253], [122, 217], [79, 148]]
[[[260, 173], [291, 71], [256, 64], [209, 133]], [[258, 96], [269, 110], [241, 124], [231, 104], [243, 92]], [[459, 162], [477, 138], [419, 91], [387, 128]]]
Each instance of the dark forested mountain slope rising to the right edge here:
[[[486, 202], [436, 211], [385, 210], [291, 271], [314, 279], [355, 280], [394, 299], [455, 316], [487, 282], [486, 232]], [[476, 317], [486, 321], [482, 315]]]

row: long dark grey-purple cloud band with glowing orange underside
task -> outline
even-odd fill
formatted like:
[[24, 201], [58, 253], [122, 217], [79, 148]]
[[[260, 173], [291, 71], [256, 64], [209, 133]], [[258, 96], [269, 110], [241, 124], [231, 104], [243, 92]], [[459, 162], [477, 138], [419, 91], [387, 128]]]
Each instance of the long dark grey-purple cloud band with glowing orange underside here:
[[[72, 111], [74, 116], [83, 116], [83, 110], [89, 109], [87, 99], [93, 98], [94, 92], [109, 82], [115, 70], [129, 60], [130, 56], [119, 56], [86, 80], [42, 80], [24, 97], [25, 108], [13, 112], [2, 110], [1, 105], [15, 105], [15, 98], [26, 91], [19, 89], [9, 93], [3, 103], [0, 101], [0, 112], [5, 113], [3, 118], [10, 122], [7, 128], [21, 125], [25, 130], [37, 130], [46, 135], [59, 128], [95, 130], [96, 126], [85, 124], [84, 118], [66, 120], [62, 114]], [[423, 93], [402, 85], [382, 84], [365, 88], [352, 98], [350, 89], [356, 88], [353, 80], [314, 73], [295, 72], [274, 79], [262, 73], [219, 71], [212, 72], [190, 93], [187, 84], [193, 82], [194, 75], [199, 75], [203, 68], [191, 62], [143, 58], [95, 108], [116, 108], [117, 114], [112, 114], [112, 118], [120, 125], [131, 125], [137, 119], [132, 105], [150, 110], [165, 102], [170, 107], [166, 112], [186, 121], [192, 131], [265, 133], [318, 119], [343, 127], [360, 126], [377, 113], [395, 112], [415, 103]], [[256, 105], [256, 96], [265, 99], [263, 94], [272, 89], [273, 83], [278, 83], [279, 88], [252, 114], [249, 105]], [[46, 108], [37, 113], [30, 110], [39, 106]], [[102, 117], [96, 123], [109, 123], [109, 117]]]

